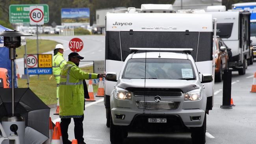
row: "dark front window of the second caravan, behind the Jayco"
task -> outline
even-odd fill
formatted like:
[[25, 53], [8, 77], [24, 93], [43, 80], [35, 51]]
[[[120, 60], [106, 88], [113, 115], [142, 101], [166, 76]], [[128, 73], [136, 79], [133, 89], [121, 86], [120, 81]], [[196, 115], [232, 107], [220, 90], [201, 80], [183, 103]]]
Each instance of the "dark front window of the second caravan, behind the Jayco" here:
[[220, 38], [229, 38], [232, 33], [232, 28], [233, 23], [217, 24], [216, 34], [219, 35]]

